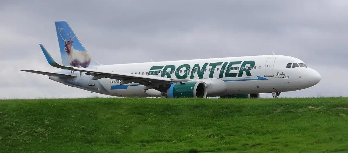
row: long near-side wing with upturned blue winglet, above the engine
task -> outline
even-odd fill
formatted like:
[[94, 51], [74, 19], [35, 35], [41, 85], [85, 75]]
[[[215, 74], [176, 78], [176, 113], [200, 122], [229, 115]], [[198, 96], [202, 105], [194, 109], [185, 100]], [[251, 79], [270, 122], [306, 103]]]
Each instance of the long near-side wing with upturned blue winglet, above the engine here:
[[118, 79], [122, 80], [121, 84], [128, 84], [128, 83], [139, 83], [142, 85], [145, 85], [143, 90], [147, 89], [156, 89], [160, 91], [160, 85], [165, 85], [169, 83], [173, 83], [172, 79], [170, 78], [164, 78], [164, 77], [156, 77], [156, 76], [148, 76], [148, 75], [137, 75], [137, 74], [129, 74], [124, 72], [112, 72], [112, 71], [100, 71], [95, 69], [89, 69], [89, 68], [77, 68], [77, 67], [68, 67], [68, 66], [62, 66], [58, 64], [52, 56], [47, 52], [46, 48], [39, 44], [42, 52], [44, 52], [44, 55], [46, 57], [47, 62], [56, 68], [61, 69], [67, 69], [72, 71], [80, 71], [86, 72], [86, 75], [92, 75], [92, 80], [101, 79], [101, 78], [110, 78], [110, 79]]

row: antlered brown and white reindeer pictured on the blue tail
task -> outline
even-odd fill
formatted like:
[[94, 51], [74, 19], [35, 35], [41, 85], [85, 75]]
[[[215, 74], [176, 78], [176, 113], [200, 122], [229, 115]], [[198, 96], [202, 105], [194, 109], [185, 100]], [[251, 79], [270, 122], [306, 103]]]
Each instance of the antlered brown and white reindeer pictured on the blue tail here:
[[[82, 67], [82, 68], [88, 67], [91, 61], [91, 56], [89, 55], [89, 53], [86, 51], [79, 51], [73, 48], [73, 39], [76, 37], [76, 35], [74, 35], [71, 38], [71, 32], [70, 32], [69, 34], [67, 34], [70, 37], [70, 40], [67, 40], [61, 34], [61, 31], [63, 30], [63, 28], [58, 27], [58, 30], [59, 30], [59, 34], [64, 40], [64, 43], [65, 43], [64, 50], [68, 54], [70, 65], [73, 67]], [[74, 71], [71, 71], [71, 73], [74, 73]], [[80, 73], [80, 76], [81, 76], [81, 73]]]

